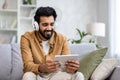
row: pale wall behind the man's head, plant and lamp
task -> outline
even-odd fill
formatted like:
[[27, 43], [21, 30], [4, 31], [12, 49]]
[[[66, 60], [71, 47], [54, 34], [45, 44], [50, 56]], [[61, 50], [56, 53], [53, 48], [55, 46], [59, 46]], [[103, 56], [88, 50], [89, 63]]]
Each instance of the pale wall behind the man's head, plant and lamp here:
[[53, 6], [58, 12], [56, 31], [68, 39], [78, 39], [76, 28], [86, 31], [90, 22], [103, 22], [106, 36], [98, 37], [100, 45], [109, 47], [108, 4], [109, 0], [38, 0], [37, 6]]

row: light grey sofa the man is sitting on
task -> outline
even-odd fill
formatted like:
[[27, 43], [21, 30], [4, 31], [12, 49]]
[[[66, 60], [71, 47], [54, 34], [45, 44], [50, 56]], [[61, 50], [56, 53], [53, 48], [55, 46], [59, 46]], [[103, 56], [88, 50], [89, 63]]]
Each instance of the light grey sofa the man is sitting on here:
[[[96, 50], [93, 43], [71, 44], [71, 54], [79, 54], [79, 58]], [[21, 80], [23, 75], [23, 62], [19, 44], [0, 44], [0, 80]], [[120, 67], [116, 66], [106, 80], [119, 80]]]

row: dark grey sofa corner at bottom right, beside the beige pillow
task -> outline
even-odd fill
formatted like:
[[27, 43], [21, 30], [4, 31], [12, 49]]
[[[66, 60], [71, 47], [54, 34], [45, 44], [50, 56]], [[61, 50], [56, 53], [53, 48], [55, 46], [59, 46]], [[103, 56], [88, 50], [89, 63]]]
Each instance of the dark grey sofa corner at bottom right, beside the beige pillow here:
[[107, 80], [120, 80], [120, 66], [116, 66]]

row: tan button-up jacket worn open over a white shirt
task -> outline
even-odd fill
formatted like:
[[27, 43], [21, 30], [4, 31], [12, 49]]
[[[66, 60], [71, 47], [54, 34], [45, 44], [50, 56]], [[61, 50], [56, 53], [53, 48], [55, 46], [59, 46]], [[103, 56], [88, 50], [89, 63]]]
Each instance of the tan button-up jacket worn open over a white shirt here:
[[26, 32], [21, 36], [20, 45], [24, 72], [32, 71], [39, 74], [38, 66], [40, 63], [45, 63], [46, 60], [53, 60], [55, 55], [70, 53], [66, 37], [54, 32], [49, 41], [49, 53], [45, 55], [41, 44], [42, 39], [39, 35], [37, 31], [33, 31]]

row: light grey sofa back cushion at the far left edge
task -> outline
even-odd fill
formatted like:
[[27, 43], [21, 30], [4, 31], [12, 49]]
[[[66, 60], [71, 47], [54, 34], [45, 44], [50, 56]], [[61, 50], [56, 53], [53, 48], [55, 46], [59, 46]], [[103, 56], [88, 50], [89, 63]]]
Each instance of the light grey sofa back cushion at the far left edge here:
[[0, 80], [10, 80], [11, 72], [11, 46], [0, 44]]

